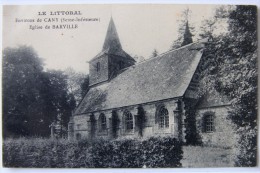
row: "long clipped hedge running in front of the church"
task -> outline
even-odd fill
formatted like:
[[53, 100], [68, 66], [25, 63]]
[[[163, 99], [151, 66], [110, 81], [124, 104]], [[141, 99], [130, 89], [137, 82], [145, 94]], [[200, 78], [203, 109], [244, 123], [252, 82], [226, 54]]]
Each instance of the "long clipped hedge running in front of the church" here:
[[182, 144], [174, 138], [116, 141], [9, 139], [5, 167], [141, 168], [180, 167]]

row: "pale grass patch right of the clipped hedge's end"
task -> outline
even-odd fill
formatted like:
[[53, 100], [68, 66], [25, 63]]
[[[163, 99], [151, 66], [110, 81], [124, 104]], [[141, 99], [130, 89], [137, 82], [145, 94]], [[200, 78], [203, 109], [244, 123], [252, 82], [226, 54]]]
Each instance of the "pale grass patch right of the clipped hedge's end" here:
[[184, 168], [233, 167], [232, 156], [232, 149], [184, 146], [181, 163]]

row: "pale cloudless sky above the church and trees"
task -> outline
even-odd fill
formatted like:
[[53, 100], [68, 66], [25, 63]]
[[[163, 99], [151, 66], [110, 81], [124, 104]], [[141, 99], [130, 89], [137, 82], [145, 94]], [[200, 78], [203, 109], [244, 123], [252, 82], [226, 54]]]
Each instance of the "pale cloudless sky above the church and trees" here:
[[[182, 11], [189, 8], [195, 30], [212, 17], [215, 5], [24, 5], [3, 8], [3, 48], [32, 46], [44, 59], [45, 69], [68, 67], [89, 73], [88, 61], [103, 46], [113, 17], [122, 48], [131, 56], [149, 58], [154, 49], [166, 52], [177, 38]], [[50, 15], [56, 11], [80, 11], [81, 15]], [[39, 15], [46, 12], [46, 15]], [[63, 22], [78, 18], [97, 21]], [[56, 19], [57, 18], [57, 19]], [[28, 19], [30, 22], [28, 22]], [[42, 20], [37, 22], [38, 19]], [[21, 22], [21, 21], [24, 22]], [[34, 20], [34, 22], [32, 22]], [[19, 22], [18, 22], [19, 21]], [[74, 29], [52, 29], [52, 25], [77, 25]], [[42, 29], [30, 29], [43, 27]], [[45, 29], [46, 25], [50, 29]]]

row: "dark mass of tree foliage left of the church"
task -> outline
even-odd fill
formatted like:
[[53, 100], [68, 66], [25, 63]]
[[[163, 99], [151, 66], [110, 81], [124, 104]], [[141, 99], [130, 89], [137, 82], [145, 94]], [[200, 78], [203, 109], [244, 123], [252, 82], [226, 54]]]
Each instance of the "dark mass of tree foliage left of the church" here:
[[49, 125], [62, 114], [63, 124], [75, 106], [67, 93], [66, 76], [43, 71], [43, 61], [32, 47], [3, 51], [4, 137], [49, 136]]

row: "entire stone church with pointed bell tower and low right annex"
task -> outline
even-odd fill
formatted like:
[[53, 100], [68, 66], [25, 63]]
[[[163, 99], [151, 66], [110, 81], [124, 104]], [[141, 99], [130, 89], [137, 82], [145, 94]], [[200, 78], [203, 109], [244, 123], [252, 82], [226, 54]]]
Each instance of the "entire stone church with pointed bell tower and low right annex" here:
[[232, 146], [228, 99], [217, 92], [197, 94], [205, 44], [190, 43], [137, 63], [123, 50], [111, 18], [103, 49], [89, 61], [90, 90], [73, 112], [68, 138], [172, 136]]

